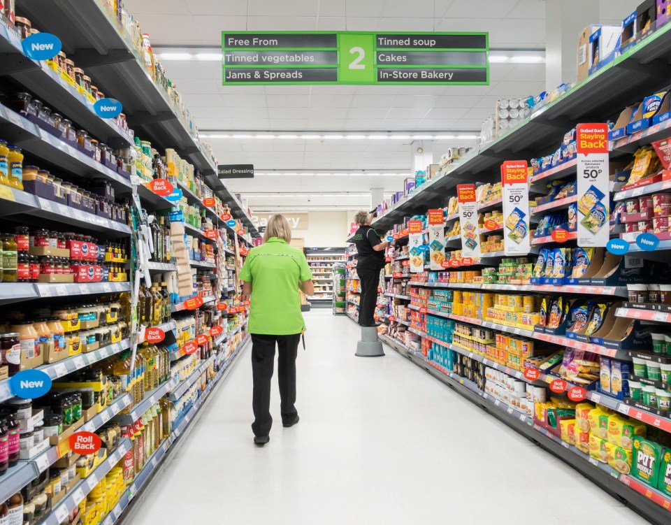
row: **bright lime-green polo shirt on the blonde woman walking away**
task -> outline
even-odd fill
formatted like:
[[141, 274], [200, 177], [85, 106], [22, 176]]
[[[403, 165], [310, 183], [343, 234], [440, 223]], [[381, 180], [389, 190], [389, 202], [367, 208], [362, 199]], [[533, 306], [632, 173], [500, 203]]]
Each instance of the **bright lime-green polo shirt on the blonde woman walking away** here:
[[289, 336], [305, 329], [298, 281], [312, 279], [305, 254], [286, 241], [270, 237], [252, 248], [240, 280], [252, 283], [249, 333]]

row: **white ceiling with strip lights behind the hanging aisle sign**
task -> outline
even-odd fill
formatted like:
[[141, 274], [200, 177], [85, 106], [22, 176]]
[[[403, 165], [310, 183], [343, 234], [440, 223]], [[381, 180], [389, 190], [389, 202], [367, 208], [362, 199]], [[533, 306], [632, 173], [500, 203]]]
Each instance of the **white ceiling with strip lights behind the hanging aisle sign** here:
[[[617, 23], [636, 0], [600, 0], [604, 23]], [[221, 31], [489, 31], [493, 50], [544, 50], [542, 0], [125, 0], [150, 34], [154, 52], [220, 52]], [[617, 4], [616, 8], [614, 4]], [[160, 13], [160, 14], [157, 14]], [[296, 131], [340, 134], [396, 131], [478, 134], [502, 97], [545, 89], [544, 64], [491, 64], [489, 86], [222, 86], [219, 62], [165, 61], [169, 78], [194, 113], [201, 134], [272, 134]], [[256, 171], [394, 171], [410, 175], [410, 140], [301, 140], [205, 138], [221, 164], [254, 164]], [[435, 161], [451, 146], [437, 141]], [[286, 175], [231, 180], [255, 208], [368, 206], [365, 196], [342, 198], [254, 196], [254, 193], [329, 194], [372, 187], [401, 190], [403, 177]], [[321, 206], [321, 205], [319, 205]]]

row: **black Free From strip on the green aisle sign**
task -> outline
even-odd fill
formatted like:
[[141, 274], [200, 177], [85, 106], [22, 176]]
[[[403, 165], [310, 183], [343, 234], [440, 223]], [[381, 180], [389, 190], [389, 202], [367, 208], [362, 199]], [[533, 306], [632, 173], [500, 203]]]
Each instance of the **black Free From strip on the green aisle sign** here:
[[338, 48], [338, 34], [335, 33], [224, 33], [224, 49], [282, 49], [282, 48]]

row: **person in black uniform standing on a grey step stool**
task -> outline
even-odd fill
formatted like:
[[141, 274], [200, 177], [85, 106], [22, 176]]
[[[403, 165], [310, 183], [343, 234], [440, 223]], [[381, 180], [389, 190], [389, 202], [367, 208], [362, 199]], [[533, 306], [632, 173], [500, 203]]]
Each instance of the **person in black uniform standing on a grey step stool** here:
[[359, 229], [354, 233], [354, 244], [359, 252], [356, 263], [356, 273], [361, 282], [361, 296], [359, 301], [359, 324], [361, 326], [375, 325], [375, 305], [377, 304], [377, 287], [380, 285], [380, 270], [384, 268], [384, 248], [389, 243], [381, 240], [375, 230], [370, 227], [373, 215], [361, 210], [354, 216], [354, 222]]

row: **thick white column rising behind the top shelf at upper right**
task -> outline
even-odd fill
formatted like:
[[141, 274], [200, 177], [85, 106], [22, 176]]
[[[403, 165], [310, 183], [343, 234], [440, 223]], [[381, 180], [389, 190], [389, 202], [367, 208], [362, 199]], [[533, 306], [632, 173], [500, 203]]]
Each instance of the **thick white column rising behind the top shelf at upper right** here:
[[599, 22], [599, 0], [545, 2], [545, 89], [551, 91], [577, 74], [578, 37]]

